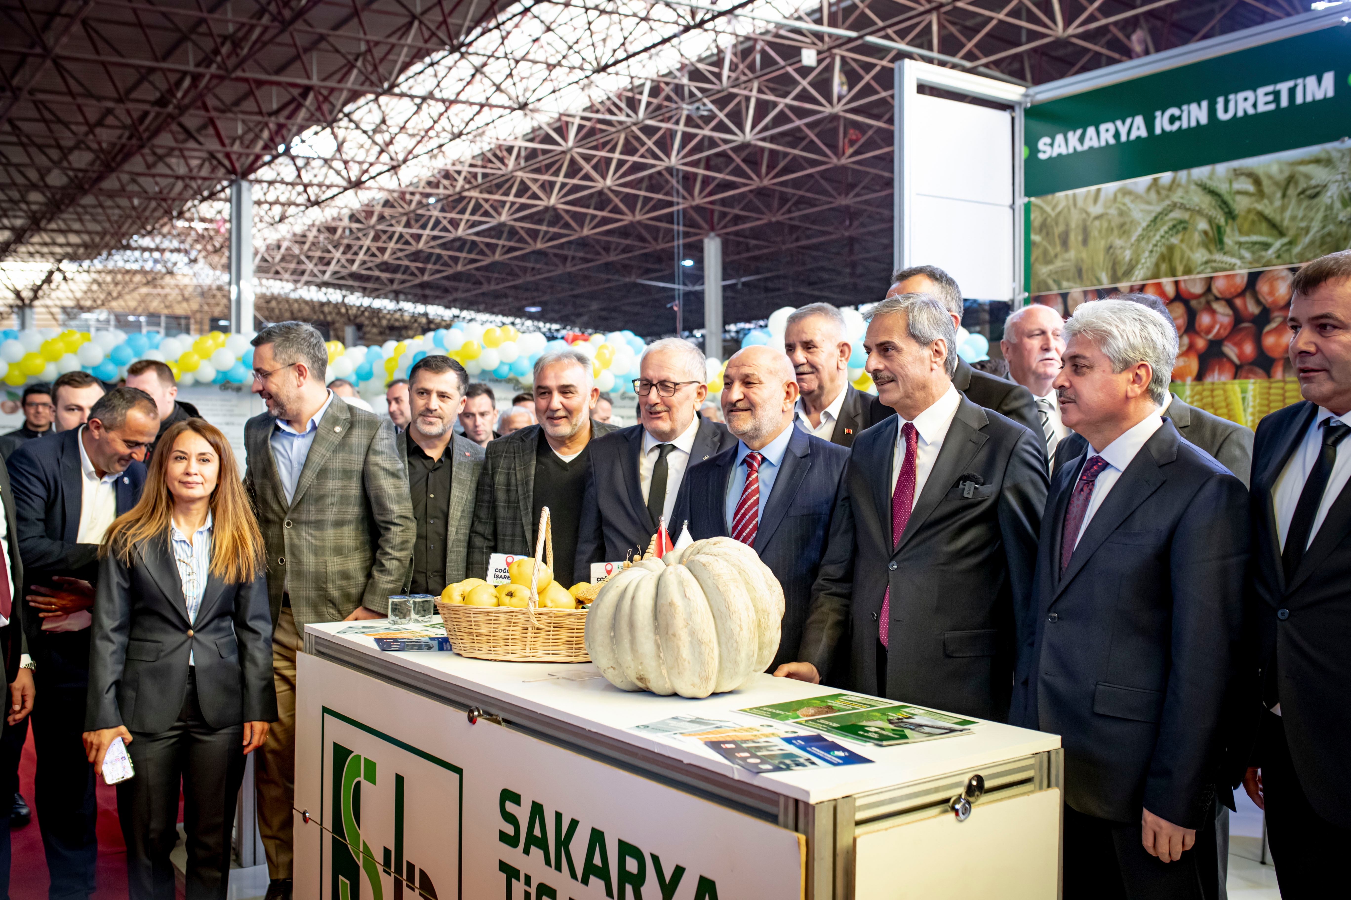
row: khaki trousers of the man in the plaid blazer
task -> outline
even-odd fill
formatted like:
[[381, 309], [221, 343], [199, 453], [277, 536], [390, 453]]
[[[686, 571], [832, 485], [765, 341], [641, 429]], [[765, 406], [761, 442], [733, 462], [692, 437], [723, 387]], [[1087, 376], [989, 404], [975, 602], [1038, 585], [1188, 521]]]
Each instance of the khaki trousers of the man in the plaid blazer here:
[[281, 607], [272, 634], [272, 677], [277, 685], [277, 721], [255, 754], [258, 834], [267, 853], [267, 876], [289, 878], [290, 833], [296, 803], [296, 654], [303, 644], [290, 607]]

